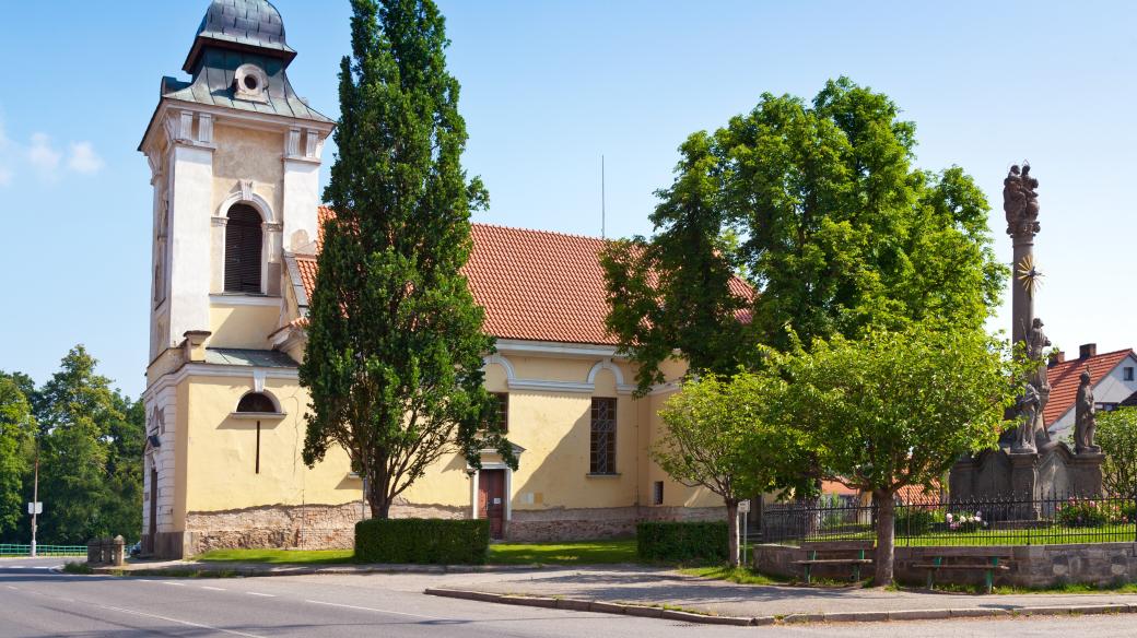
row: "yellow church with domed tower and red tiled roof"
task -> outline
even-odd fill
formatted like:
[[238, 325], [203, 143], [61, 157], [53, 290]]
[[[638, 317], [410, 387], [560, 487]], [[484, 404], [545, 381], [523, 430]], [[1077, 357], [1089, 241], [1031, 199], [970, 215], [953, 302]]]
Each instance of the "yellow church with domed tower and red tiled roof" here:
[[[299, 98], [265, 0], [213, 0], [183, 70], [165, 77], [139, 150], [153, 186], [147, 368], [147, 553], [349, 547], [365, 507], [347, 454], [300, 459], [298, 380], [315, 280], [323, 148], [334, 123]], [[333, 73], [332, 69], [329, 73]], [[645, 519], [724, 515], [671, 481], [648, 450], [674, 392], [632, 396], [607, 334], [601, 240], [473, 226], [464, 272], [497, 337], [487, 389], [505, 408], [517, 470], [443, 459], [393, 517], [485, 518], [518, 540], [629, 535]], [[674, 363], [669, 378], [683, 372]]]

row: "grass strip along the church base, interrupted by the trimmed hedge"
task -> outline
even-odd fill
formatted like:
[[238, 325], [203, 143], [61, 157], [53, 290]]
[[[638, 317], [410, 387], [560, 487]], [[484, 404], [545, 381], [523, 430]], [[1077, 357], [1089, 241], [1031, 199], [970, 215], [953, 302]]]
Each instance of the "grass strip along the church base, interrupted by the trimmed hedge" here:
[[[193, 557], [208, 562], [242, 563], [302, 563], [334, 564], [350, 563], [351, 549], [214, 549]], [[550, 565], [596, 565], [612, 563], [634, 563], [636, 539], [586, 540], [582, 543], [526, 543], [490, 545], [485, 561], [493, 565], [528, 565], [543, 563]]]

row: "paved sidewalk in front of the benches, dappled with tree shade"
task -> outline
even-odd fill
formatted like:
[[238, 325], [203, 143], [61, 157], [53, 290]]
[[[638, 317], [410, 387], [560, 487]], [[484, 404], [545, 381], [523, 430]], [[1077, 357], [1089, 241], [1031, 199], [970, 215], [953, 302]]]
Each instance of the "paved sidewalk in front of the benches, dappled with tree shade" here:
[[883, 589], [735, 585], [648, 568], [546, 569], [513, 574], [448, 576], [441, 587], [596, 602], [673, 605], [725, 616], [860, 612], [1026, 610], [1137, 605], [1132, 594], [979, 595]]

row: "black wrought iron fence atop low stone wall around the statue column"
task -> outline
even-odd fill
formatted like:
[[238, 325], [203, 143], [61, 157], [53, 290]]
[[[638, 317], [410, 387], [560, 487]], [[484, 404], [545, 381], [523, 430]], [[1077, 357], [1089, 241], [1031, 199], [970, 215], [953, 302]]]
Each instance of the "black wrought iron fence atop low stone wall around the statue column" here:
[[[1134, 495], [920, 495], [896, 500], [894, 512], [898, 546], [1137, 543]], [[874, 503], [822, 498], [766, 505], [758, 531], [763, 543], [869, 540], [877, 537], [877, 520]]]

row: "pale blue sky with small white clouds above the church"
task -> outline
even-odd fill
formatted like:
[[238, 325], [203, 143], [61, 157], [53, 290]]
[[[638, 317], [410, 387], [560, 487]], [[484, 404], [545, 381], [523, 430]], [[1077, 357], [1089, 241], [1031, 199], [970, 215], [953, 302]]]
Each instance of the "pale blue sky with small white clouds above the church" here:
[[[335, 116], [346, 0], [276, 0], [297, 91]], [[1038, 314], [1056, 345], [1134, 345], [1135, 11], [1123, 2], [516, 2], [441, 0], [490, 190], [475, 220], [647, 234], [690, 133], [763, 92], [812, 98], [848, 75], [918, 124], [919, 165], [960, 165], [995, 205], [1029, 159], [1041, 185]], [[44, 380], [84, 343], [144, 387], [149, 170], [135, 151], [163, 75], [207, 0], [5, 2], [0, 19], [0, 369]], [[326, 168], [334, 148], [325, 153]], [[991, 322], [1002, 328], [1005, 313]]]

